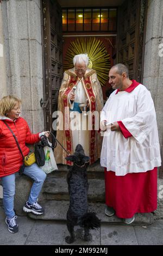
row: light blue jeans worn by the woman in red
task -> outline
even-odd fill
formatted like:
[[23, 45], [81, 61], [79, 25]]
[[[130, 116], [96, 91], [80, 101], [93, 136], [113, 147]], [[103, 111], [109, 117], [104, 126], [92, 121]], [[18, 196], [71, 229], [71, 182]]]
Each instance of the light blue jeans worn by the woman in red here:
[[[33, 204], [39, 197], [43, 182], [46, 179], [46, 174], [43, 170], [33, 163], [32, 166], [27, 166], [24, 169], [24, 174], [34, 180], [32, 188], [30, 190], [28, 202]], [[3, 186], [3, 206], [5, 214], [8, 218], [15, 215], [14, 212], [14, 195], [15, 195], [15, 173], [2, 177]]]

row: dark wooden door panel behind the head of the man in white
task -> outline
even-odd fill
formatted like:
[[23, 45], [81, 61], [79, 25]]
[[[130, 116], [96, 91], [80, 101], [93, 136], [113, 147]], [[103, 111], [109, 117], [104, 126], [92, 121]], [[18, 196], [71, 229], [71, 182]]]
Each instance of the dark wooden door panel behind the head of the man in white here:
[[146, 0], [127, 0], [118, 9], [117, 62], [129, 68], [129, 77], [142, 82]]

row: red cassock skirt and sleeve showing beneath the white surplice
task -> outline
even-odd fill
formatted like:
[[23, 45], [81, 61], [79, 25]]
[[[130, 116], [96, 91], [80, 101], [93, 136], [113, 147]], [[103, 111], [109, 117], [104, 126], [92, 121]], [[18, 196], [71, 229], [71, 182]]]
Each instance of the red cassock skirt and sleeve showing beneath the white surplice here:
[[[125, 138], [131, 133], [117, 122]], [[131, 218], [139, 213], [152, 212], [157, 208], [157, 167], [144, 173], [128, 173], [116, 176], [105, 168], [105, 202], [114, 208], [119, 218]]]

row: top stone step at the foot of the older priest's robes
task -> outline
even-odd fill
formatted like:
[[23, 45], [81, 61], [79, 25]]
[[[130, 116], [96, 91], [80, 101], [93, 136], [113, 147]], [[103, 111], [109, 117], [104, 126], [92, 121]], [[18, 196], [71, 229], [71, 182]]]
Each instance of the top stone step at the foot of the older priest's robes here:
[[[66, 178], [68, 169], [65, 164], [57, 164], [58, 170], [54, 170], [52, 173], [49, 173], [49, 177], [55, 178]], [[101, 167], [99, 161], [91, 164], [87, 168], [87, 178], [88, 179], [104, 179], [104, 167]]]

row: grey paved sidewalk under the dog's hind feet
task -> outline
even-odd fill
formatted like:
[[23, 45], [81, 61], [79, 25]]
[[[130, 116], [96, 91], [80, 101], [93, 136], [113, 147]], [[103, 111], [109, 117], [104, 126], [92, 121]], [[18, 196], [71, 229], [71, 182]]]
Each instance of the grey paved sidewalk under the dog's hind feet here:
[[[11, 234], [5, 224], [0, 206], [0, 245], [65, 245], [68, 235], [65, 222], [17, 218], [18, 233]], [[76, 241], [71, 245], [163, 245], [163, 220], [152, 225], [102, 224], [99, 230], [91, 230], [92, 241], [82, 240], [83, 230], [75, 228]]]

